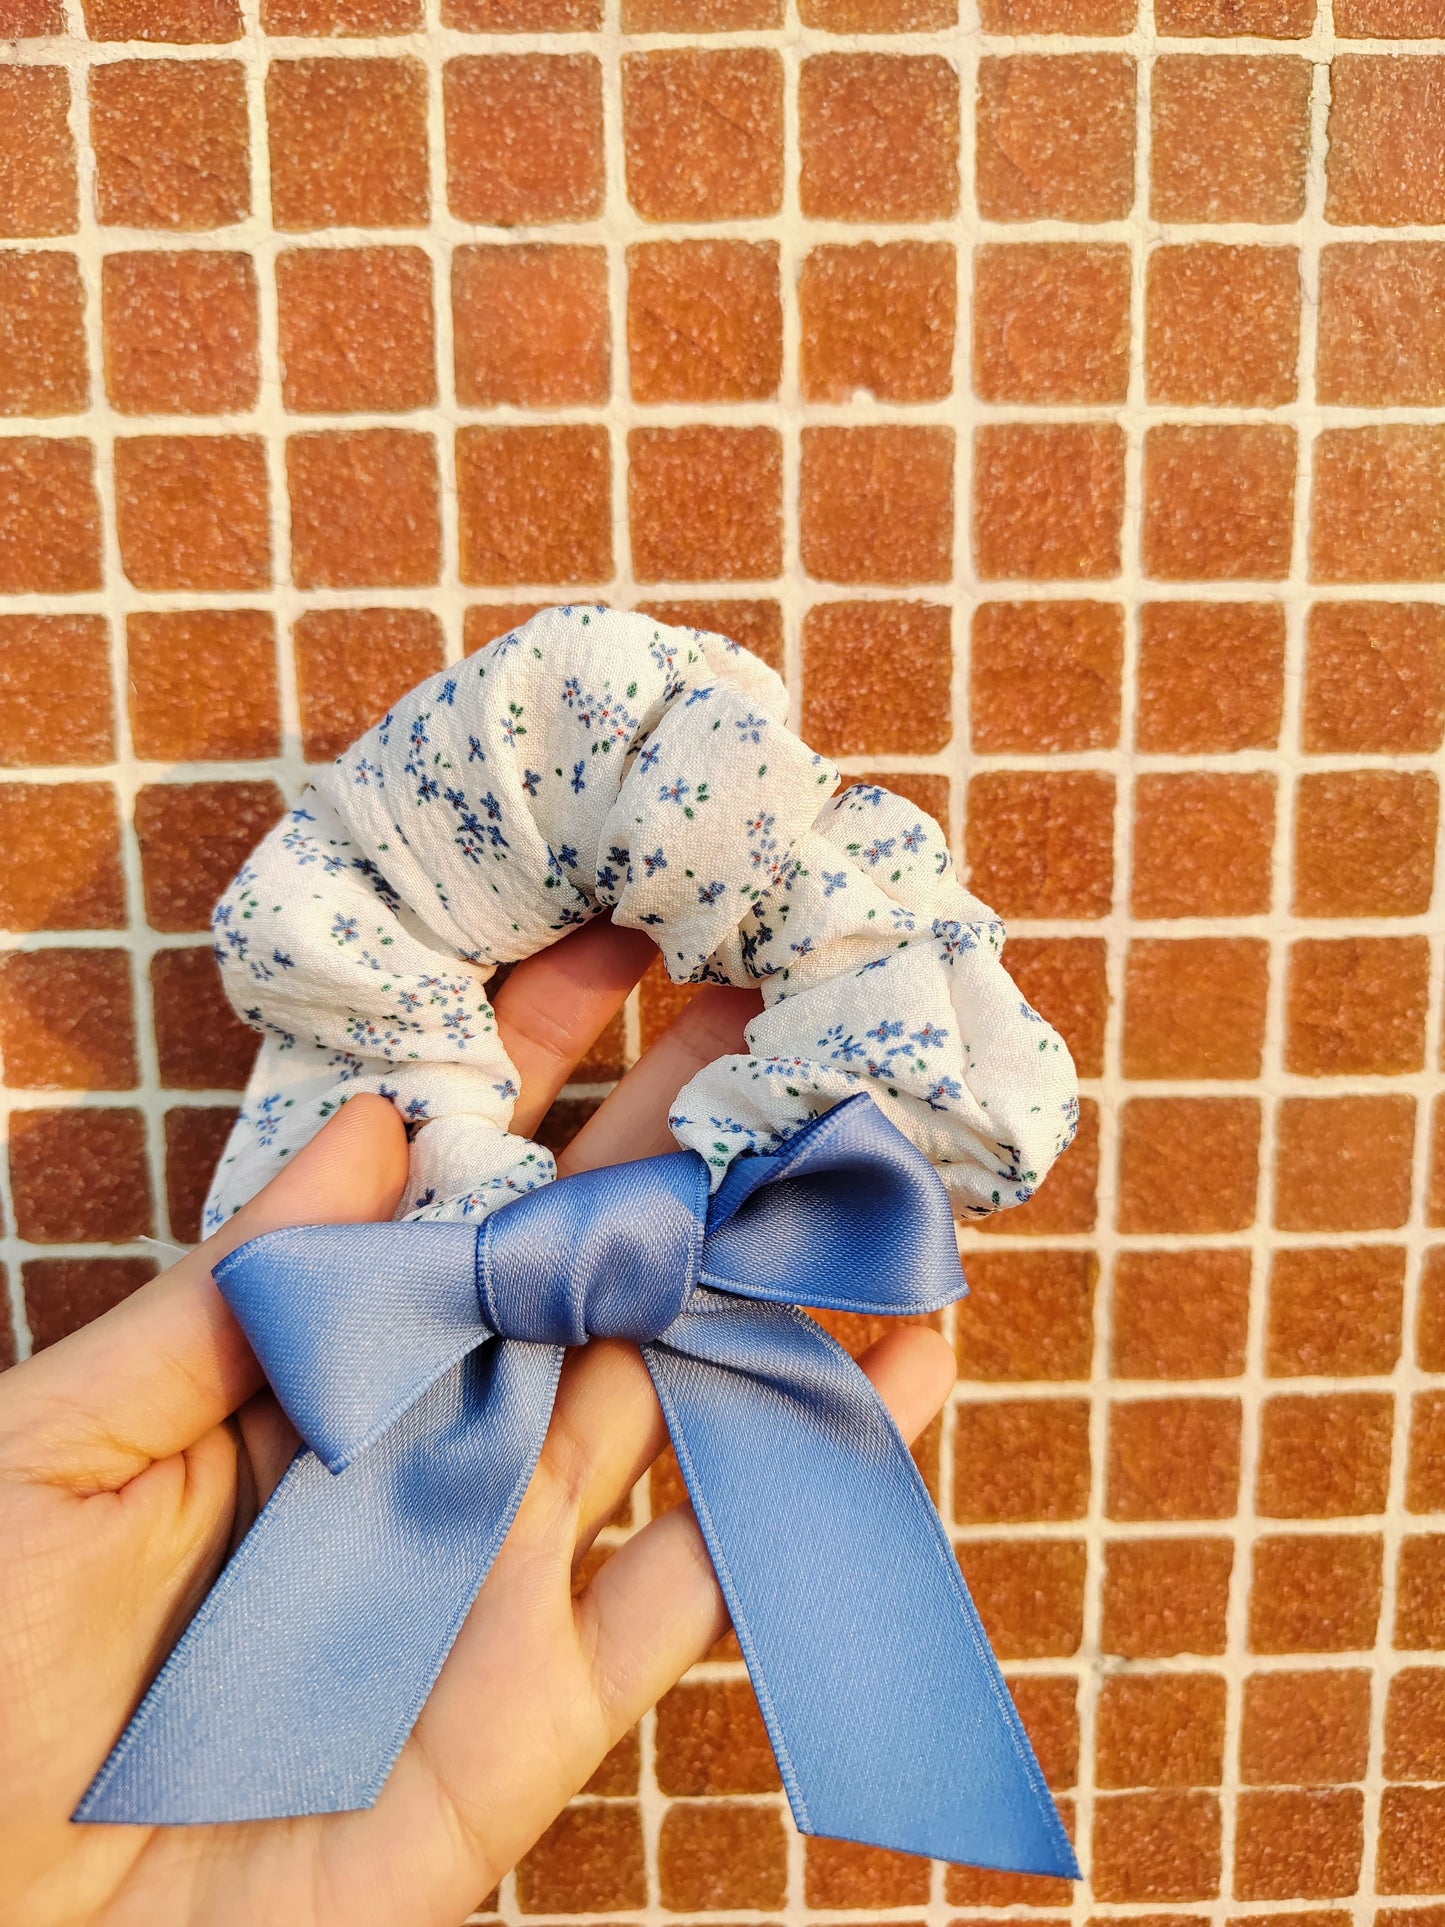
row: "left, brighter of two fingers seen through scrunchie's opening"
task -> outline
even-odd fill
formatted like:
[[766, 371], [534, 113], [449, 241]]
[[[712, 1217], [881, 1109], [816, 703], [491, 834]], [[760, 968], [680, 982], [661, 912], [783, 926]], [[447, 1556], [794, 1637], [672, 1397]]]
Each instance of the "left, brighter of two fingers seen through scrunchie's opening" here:
[[532, 1137], [655, 956], [642, 931], [597, 919], [518, 964], [497, 990], [497, 1027], [522, 1079], [511, 1125], [518, 1137]]

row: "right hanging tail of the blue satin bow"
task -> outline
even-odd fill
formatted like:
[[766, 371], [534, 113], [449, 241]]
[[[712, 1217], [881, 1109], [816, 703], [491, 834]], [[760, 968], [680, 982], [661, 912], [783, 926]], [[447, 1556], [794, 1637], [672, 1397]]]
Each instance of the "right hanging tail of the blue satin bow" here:
[[699, 1289], [645, 1347], [801, 1833], [1079, 1867], [907, 1445], [803, 1312]]

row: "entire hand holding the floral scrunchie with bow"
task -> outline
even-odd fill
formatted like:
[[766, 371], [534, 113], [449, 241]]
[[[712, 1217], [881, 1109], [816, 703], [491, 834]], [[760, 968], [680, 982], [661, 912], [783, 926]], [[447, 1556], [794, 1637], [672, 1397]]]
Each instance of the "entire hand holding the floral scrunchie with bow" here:
[[[588, 929], [495, 996], [532, 1133], [653, 956]], [[578, 1133], [561, 1170], [676, 1148], [670, 1098], [742, 1048], [751, 992], [705, 989]], [[726, 1628], [692, 1511], [665, 1513], [572, 1596], [667, 1432], [638, 1351], [568, 1353], [503, 1551], [370, 1811], [231, 1827], [73, 1827], [91, 1775], [276, 1488], [295, 1432], [210, 1266], [258, 1231], [389, 1218], [407, 1172], [391, 1104], [353, 1098], [223, 1231], [0, 1380], [0, 1917], [453, 1927], [617, 1740]], [[907, 1436], [952, 1359], [898, 1328], [863, 1370]], [[800, 1601], [805, 1611], [805, 1601]]]

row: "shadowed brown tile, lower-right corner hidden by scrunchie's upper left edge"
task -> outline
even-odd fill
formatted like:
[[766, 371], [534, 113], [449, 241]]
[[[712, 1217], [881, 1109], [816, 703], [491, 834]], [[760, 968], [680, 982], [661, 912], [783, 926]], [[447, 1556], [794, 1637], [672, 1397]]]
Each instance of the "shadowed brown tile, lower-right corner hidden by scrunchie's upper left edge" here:
[[148, 782], [135, 798], [146, 921], [204, 931], [216, 898], [283, 813], [274, 782]]

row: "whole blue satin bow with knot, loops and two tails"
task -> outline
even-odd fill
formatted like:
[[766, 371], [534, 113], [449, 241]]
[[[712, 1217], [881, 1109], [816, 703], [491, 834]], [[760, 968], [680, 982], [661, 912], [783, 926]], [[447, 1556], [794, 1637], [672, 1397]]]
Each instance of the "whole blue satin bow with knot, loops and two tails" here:
[[310, 1451], [75, 1819], [370, 1806], [522, 1501], [563, 1347], [617, 1335], [642, 1345], [798, 1827], [1077, 1875], [907, 1447], [794, 1308], [967, 1289], [938, 1174], [869, 1096], [711, 1201], [688, 1150], [480, 1227], [270, 1231], [216, 1280]]

